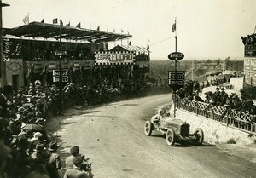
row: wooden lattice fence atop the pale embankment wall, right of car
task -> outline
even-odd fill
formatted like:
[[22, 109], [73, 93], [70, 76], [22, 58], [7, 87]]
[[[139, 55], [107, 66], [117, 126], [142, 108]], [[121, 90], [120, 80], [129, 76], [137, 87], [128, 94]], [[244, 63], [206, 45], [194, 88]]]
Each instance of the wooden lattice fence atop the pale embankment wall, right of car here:
[[224, 106], [213, 106], [201, 101], [178, 99], [177, 107], [196, 115], [211, 118], [228, 127], [256, 134], [255, 116], [247, 112], [236, 111]]

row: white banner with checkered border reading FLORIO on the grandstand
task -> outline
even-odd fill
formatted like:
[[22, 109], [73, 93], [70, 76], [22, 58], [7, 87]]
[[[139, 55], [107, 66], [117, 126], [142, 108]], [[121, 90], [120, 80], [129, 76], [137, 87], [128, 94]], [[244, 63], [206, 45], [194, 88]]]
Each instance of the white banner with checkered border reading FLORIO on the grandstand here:
[[134, 65], [135, 53], [134, 52], [96, 52], [95, 65]]

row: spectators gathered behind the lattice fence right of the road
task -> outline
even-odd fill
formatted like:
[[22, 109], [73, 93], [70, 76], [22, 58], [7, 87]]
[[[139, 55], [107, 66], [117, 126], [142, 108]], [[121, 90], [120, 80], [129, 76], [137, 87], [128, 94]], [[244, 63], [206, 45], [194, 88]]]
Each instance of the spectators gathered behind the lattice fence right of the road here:
[[243, 93], [241, 93], [241, 98], [235, 93], [228, 95], [224, 87], [218, 87], [217, 85], [215, 91], [205, 93], [206, 100], [202, 100], [198, 94], [197, 81], [186, 81], [183, 88], [177, 90], [177, 95], [180, 99], [201, 101], [212, 106], [225, 106], [228, 109], [256, 115], [256, 106], [253, 104], [253, 100], [248, 100]]

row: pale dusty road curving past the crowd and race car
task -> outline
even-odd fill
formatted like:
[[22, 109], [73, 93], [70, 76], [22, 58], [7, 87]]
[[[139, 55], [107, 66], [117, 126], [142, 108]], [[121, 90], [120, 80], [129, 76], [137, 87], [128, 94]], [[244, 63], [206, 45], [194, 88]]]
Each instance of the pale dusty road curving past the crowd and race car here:
[[170, 147], [156, 132], [144, 135], [145, 120], [170, 101], [171, 95], [155, 95], [79, 111], [61, 124], [61, 156], [65, 158], [70, 146], [78, 145], [94, 162], [93, 172], [99, 178], [256, 176], [256, 164], [216, 146]]

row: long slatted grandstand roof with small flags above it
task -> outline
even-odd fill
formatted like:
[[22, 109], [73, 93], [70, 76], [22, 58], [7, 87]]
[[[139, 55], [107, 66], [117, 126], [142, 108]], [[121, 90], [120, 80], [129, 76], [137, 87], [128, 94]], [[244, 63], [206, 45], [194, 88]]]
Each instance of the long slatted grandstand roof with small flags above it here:
[[16, 37], [44, 37], [65, 38], [72, 40], [84, 40], [90, 43], [109, 42], [132, 37], [130, 34], [119, 34], [113, 32], [96, 31], [73, 26], [60, 26], [41, 22], [31, 22], [28, 25], [10, 29], [3, 29], [4, 35]]

